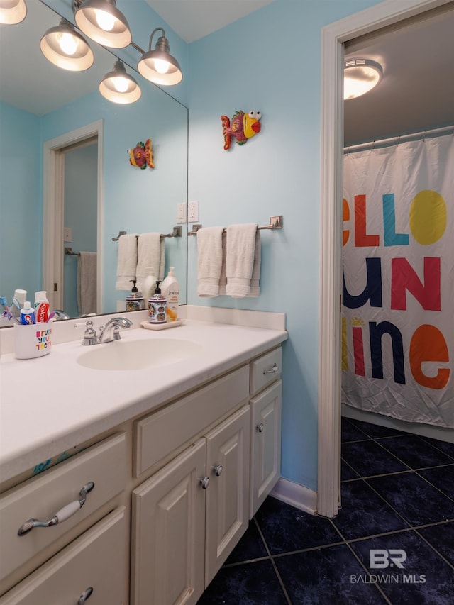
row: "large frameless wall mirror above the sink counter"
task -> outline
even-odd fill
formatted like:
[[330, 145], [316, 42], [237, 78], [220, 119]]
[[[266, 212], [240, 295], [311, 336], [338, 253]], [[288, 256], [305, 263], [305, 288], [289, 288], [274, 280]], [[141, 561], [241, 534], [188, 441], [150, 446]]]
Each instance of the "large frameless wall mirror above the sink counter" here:
[[[87, 233], [94, 233], [100, 278], [97, 312], [113, 313], [121, 309], [118, 301], [124, 302], [128, 295], [115, 287], [118, 240], [113, 238], [120, 231], [172, 233], [177, 226], [177, 204], [187, 201], [187, 108], [129, 65], [126, 71], [140, 85], [142, 96], [130, 105], [107, 101], [98, 85], [113, 69], [116, 57], [87, 38], [95, 57], [89, 70], [68, 72], [55, 67], [41, 54], [39, 41], [45, 30], [58, 25], [60, 16], [38, 0], [28, 1], [27, 6], [22, 23], [0, 25], [0, 295], [10, 302], [14, 289], [26, 289], [27, 300], [30, 297], [33, 304], [34, 293], [47, 289], [50, 299], [52, 292], [43, 284], [43, 245], [50, 244], [52, 230], [47, 227], [55, 222], [61, 223], [61, 233], [66, 234], [54, 246], [65, 273], [57, 285], [59, 293], [62, 289], [72, 292], [70, 306], [77, 309], [74, 280], [78, 256], [65, 255], [64, 249], [87, 250], [91, 245]], [[99, 123], [101, 203], [97, 212], [96, 199], [89, 200], [96, 193], [87, 194], [85, 187], [89, 171], [79, 169], [71, 177], [72, 209], [61, 211], [61, 216], [55, 211], [43, 230], [48, 201], [48, 194], [43, 195], [48, 179], [43, 148]], [[142, 170], [131, 165], [128, 150], [148, 138], [155, 167]], [[87, 148], [93, 150], [92, 145]], [[96, 160], [88, 161], [93, 164]], [[70, 182], [70, 177], [65, 180]], [[180, 304], [186, 303], [187, 296], [186, 233], [184, 223], [182, 237], [164, 240], [165, 272], [170, 265], [175, 267]], [[69, 314], [75, 313], [77, 310]]]

